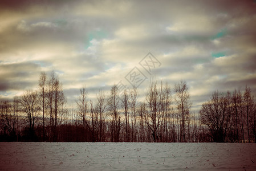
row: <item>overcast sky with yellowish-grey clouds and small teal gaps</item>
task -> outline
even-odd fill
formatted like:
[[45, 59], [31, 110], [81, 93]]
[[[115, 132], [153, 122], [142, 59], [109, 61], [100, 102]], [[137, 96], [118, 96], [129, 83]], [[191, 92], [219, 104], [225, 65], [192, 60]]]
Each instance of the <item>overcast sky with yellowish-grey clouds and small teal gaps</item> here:
[[1, 1], [0, 99], [38, 88], [41, 71], [68, 103], [113, 84], [185, 80], [192, 109], [213, 91], [256, 95], [256, 1]]

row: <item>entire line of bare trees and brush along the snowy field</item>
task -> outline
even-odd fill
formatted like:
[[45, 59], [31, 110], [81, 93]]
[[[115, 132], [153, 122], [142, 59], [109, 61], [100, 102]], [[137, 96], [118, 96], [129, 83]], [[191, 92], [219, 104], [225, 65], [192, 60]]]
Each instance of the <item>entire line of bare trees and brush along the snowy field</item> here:
[[243, 92], [214, 91], [192, 112], [188, 85], [154, 81], [143, 100], [133, 87], [99, 91], [88, 99], [80, 89], [75, 107], [67, 105], [54, 72], [40, 74], [37, 91], [0, 101], [0, 141], [51, 142], [256, 142], [256, 103]]

